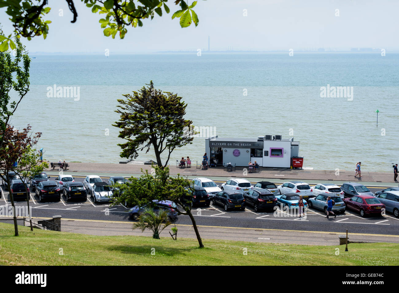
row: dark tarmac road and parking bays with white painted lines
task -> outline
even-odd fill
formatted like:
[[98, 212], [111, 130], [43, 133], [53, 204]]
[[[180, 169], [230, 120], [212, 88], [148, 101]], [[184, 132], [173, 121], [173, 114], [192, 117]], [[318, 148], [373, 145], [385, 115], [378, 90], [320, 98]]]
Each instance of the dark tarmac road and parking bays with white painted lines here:
[[[76, 181], [83, 181], [84, 176], [75, 176]], [[108, 177], [103, 177], [107, 180]], [[220, 187], [221, 181], [215, 183]], [[382, 188], [370, 188], [375, 192]], [[26, 201], [17, 201], [17, 207], [25, 207]], [[8, 192], [3, 190], [3, 197], [0, 199], [0, 215], [10, 206]], [[101, 221], [132, 221], [128, 209], [123, 205], [111, 206], [107, 203], [94, 204], [90, 197], [85, 202], [66, 202], [61, 197], [59, 202], [40, 203], [34, 193], [30, 194], [30, 207], [32, 216], [48, 218], [53, 215], [61, 215], [62, 219], [85, 219]], [[1, 211], [3, 211], [1, 213]], [[18, 209], [17, 209], [18, 212]], [[247, 206], [245, 211], [224, 211], [221, 205], [194, 208], [192, 211], [198, 225], [213, 227], [245, 227], [254, 229], [282, 229], [299, 231], [328, 231], [343, 232], [346, 229], [353, 233], [399, 235], [399, 219], [392, 214], [378, 215], [372, 217], [360, 217], [354, 211], [346, 210], [334, 219], [326, 219], [323, 211], [317, 209], [306, 209], [304, 217], [290, 211], [283, 211], [277, 207], [275, 211], [255, 212], [252, 207]], [[21, 215], [23, 216], [23, 215]], [[188, 216], [180, 215], [176, 224], [190, 225]]]

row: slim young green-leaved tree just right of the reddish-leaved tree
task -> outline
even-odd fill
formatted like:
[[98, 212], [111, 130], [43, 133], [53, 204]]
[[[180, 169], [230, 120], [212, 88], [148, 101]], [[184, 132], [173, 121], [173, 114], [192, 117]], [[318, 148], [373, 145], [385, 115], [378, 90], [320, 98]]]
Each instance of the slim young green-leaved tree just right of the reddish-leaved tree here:
[[[34, 178], [35, 175], [40, 174], [43, 170], [47, 169], [49, 165], [47, 162], [42, 162], [40, 160], [40, 151], [35, 150], [30, 145], [27, 146], [25, 152], [22, 154], [18, 161], [18, 165], [12, 168], [12, 171], [20, 174], [23, 181], [30, 181]], [[30, 230], [33, 231], [32, 227], [32, 213], [30, 211], [29, 206], [29, 192], [28, 186], [25, 184], [25, 191], [26, 191], [26, 200], [28, 202], [28, 213], [29, 213], [29, 222], [30, 222]]]

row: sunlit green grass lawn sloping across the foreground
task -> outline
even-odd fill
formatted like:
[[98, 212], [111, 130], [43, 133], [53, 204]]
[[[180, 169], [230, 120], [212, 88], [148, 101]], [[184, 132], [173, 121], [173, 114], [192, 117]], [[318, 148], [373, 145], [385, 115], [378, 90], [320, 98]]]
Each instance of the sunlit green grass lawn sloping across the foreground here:
[[[399, 244], [308, 246], [171, 237], [92, 236], [0, 223], [0, 265], [398, 265]], [[164, 233], [165, 235], [166, 233]], [[154, 249], [155, 250], [154, 250]], [[244, 248], [247, 255], [244, 255]], [[336, 255], [339, 248], [339, 255]], [[60, 255], [60, 251], [63, 255]], [[155, 251], [152, 255], [151, 251]]]

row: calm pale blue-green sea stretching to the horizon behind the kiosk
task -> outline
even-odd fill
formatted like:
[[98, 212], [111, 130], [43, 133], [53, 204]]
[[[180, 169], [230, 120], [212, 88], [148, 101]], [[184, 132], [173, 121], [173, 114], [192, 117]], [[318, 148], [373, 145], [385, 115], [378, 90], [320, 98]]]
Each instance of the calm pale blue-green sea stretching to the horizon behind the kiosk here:
[[[304, 166], [392, 171], [399, 161], [399, 54], [170, 53], [151, 55], [31, 54], [31, 90], [12, 118], [43, 133], [51, 161], [119, 162], [123, 140], [112, 124], [122, 94], [150, 80], [188, 104], [186, 118], [219, 137], [293, 134]], [[47, 87], [79, 86], [79, 100], [48, 98]], [[320, 87], [353, 87], [351, 98], [321, 98]], [[247, 96], [243, 95], [244, 89]], [[349, 100], [348, 100], [349, 99]], [[379, 109], [378, 127], [375, 110]], [[109, 131], [109, 135], [107, 134]], [[201, 160], [204, 138], [172, 154]], [[138, 161], [155, 159], [142, 153]]]

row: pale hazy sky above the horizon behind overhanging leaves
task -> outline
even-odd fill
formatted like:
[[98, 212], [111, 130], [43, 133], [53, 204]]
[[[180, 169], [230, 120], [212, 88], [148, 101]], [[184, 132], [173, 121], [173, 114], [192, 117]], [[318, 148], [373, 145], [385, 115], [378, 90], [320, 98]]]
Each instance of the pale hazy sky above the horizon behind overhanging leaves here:
[[[398, 51], [399, 1], [393, 0], [198, 0], [194, 9], [199, 25], [181, 28], [172, 14], [179, 10], [169, 1], [169, 14], [146, 19], [142, 27], [128, 27], [124, 39], [103, 35], [99, 19], [81, 1], [75, 0], [76, 23], [66, 1], [49, 0], [51, 12], [47, 39], [24, 40], [30, 52], [92, 53], [109, 49], [113, 53], [158, 51], [300, 51], [353, 47]], [[190, 4], [191, 0], [188, 1]], [[63, 16], [59, 16], [59, 10]], [[339, 16], [337, 15], [339, 10]], [[6, 8], [0, 9], [4, 33], [13, 30]], [[244, 10], [247, 16], [244, 16]]]

